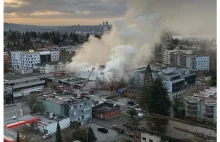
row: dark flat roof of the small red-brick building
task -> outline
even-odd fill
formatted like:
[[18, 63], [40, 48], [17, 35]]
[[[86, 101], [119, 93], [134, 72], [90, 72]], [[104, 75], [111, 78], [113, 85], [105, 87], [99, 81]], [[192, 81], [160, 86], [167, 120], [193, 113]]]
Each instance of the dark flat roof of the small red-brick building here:
[[115, 110], [120, 110], [120, 106], [119, 105], [114, 106], [114, 104], [107, 103], [107, 102], [102, 103], [92, 108], [93, 112], [99, 112], [99, 113], [108, 113], [108, 112], [112, 112]]

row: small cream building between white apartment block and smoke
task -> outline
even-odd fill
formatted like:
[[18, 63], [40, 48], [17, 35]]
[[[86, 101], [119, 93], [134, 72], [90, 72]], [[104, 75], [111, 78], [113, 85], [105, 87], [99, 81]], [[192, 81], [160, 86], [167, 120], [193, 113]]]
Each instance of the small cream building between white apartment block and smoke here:
[[64, 72], [65, 63], [62, 61], [54, 61], [54, 62], [44, 62], [36, 65], [40, 71], [40, 73], [48, 74], [54, 72]]

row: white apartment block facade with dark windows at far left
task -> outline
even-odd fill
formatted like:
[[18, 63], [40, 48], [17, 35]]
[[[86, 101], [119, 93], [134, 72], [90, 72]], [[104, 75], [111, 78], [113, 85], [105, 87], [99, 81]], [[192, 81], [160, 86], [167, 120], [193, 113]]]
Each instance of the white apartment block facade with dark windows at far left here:
[[11, 64], [14, 70], [33, 69], [38, 63], [40, 63], [40, 55], [37, 52], [11, 52]]

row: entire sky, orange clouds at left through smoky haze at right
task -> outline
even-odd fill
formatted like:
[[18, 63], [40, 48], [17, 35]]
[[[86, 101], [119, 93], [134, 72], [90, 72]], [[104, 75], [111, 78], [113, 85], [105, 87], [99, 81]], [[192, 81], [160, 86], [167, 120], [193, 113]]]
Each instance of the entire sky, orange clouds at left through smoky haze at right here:
[[216, 0], [4, 0], [4, 19], [34, 25], [100, 24], [124, 17], [131, 3], [136, 11], [163, 14], [164, 24], [175, 29], [216, 31]]

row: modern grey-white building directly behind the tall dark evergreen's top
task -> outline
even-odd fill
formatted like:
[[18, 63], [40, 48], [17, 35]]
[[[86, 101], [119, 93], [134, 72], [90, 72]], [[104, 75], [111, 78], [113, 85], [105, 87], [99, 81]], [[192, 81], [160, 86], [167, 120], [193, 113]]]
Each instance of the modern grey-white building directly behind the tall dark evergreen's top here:
[[[139, 68], [134, 72], [134, 86], [144, 86], [146, 69], [147, 68]], [[183, 67], [151, 66], [150, 72], [148, 71], [148, 76], [150, 76], [149, 74], [152, 74], [153, 80], [157, 78], [162, 79], [171, 101], [185, 93], [187, 89], [194, 87], [196, 83], [196, 73]]]

